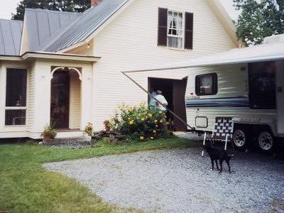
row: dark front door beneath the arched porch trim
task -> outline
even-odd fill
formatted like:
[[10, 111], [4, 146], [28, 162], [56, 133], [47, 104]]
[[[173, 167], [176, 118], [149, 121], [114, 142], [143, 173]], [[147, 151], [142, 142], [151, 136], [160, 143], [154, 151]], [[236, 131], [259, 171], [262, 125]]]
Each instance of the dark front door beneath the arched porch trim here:
[[70, 75], [56, 71], [51, 80], [50, 121], [55, 129], [69, 129]]

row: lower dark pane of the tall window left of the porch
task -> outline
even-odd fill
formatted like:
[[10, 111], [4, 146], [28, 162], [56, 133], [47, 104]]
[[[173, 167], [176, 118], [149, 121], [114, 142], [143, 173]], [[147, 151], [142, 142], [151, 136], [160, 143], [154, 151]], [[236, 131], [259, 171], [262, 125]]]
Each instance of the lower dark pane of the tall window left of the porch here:
[[26, 125], [26, 109], [6, 110], [5, 125]]

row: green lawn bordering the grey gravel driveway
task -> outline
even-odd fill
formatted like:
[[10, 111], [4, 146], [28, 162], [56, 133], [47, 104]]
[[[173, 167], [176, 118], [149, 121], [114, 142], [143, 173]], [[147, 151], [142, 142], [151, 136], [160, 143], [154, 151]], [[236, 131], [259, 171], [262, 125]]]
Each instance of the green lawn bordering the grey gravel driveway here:
[[92, 148], [48, 148], [39, 145], [0, 145], [0, 212], [136, 212], [103, 203], [75, 180], [45, 170], [46, 162], [92, 158], [163, 148], [201, 146], [170, 138], [119, 145], [97, 143]]

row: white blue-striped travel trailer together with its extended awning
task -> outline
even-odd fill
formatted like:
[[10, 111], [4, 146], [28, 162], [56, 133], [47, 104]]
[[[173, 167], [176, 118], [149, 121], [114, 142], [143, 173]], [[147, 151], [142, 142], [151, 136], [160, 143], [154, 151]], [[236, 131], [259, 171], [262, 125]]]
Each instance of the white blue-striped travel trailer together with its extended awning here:
[[229, 116], [238, 149], [256, 145], [271, 152], [283, 141], [284, 35], [266, 38], [258, 46], [140, 71], [158, 70], [187, 71], [182, 119], [188, 131], [212, 131], [216, 117]]

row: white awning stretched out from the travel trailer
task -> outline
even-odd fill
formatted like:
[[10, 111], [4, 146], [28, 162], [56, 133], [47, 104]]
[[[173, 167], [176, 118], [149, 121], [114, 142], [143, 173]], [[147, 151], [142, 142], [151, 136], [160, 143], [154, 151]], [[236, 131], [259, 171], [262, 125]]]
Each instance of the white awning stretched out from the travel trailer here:
[[146, 67], [141, 70], [125, 72], [145, 72], [154, 70], [175, 70], [187, 67], [208, 67], [214, 65], [233, 65], [247, 62], [261, 62], [284, 59], [284, 42], [256, 45], [249, 48], [235, 48], [201, 58], [172, 62], [164, 65]]

